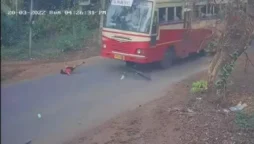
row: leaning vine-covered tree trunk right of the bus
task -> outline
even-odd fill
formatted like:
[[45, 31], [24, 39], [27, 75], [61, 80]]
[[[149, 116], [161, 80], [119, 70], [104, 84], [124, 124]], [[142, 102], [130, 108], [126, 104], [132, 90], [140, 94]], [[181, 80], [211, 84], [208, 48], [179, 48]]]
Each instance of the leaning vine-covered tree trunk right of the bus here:
[[[248, 12], [252, 12], [248, 7]], [[253, 15], [254, 16], [254, 15]], [[237, 58], [246, 50], [254, 32], [254, 19], [243, 11], [231, 6], [225, 19], [226, 29], [218, 42], [218, 50], [208, 69], [208, 86], [210, 90], [222, 90], [232, 72], [230, 68]], [[218, 92], [218, 91], [217, 91]]]

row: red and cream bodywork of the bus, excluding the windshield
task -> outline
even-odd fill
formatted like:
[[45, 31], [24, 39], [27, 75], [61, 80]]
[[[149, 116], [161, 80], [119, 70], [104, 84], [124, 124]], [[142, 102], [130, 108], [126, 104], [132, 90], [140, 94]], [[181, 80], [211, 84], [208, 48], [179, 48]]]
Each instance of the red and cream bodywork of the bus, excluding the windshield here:
[[[149, 0], [153, 2], [153, 12], [160, 7], [183, 6], [183, 0]], [[183, 13], [183, 12], [182, 12]], [[152, 19], [154, 14], [152, 15]], [[210, 21], [213, 25], [215, 21]], [[130, 61], [136, 63], [151, 63], [160, 61], [168, 48], [174, 48], [179, 58], [187, 57], [190, 53], [199, 52], [212, 30], [204, 29], [207, 21], [200, 21], [191, 24], [190, 29], [183, 28], [183, 22], [159, 24], [156, 44], [151, 44], [150, 33], [138, 33], [111, 28], [102, 30], [103, 57]], [[141, 49], [142, 54], [137, 54]], [[120, 55], [120, 57], [119, 57]]]

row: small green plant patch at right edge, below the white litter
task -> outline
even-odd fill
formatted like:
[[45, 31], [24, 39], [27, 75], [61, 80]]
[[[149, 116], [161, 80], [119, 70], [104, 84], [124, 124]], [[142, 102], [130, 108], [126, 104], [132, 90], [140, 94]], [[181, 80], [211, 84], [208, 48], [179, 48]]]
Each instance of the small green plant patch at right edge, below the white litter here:
[[254, 129], [254, 113], [246, 114], [244, 112], [236, 113], [235, 122], [242, 128]]

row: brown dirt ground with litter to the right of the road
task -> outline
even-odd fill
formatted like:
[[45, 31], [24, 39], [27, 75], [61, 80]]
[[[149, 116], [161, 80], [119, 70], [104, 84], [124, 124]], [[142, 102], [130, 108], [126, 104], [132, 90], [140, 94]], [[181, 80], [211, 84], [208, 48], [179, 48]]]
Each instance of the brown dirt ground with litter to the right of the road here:
[[[254, 54], [250, 55], [254, 62]], [[174, 85], [164, 97], [123, 113], [64, 144], [253, 144], [254, 127], [236, 124], [228, 109], [239, 101], [243, 112], [254, 114], [254, 68], [244, 72], [245, 56], [237, 63], [224, 100], [209, 93], [191, 94], [193, 81], [206, 72]], [[228, 111], [226, 111], [228, 110]]]

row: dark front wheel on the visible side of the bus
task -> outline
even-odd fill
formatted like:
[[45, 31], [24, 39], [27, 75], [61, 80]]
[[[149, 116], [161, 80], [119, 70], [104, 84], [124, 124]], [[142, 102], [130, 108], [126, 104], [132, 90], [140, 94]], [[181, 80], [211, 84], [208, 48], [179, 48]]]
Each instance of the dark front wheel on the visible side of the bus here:
[[173, 49], [168, 49], [165, 54], [164, 58], [160, 61], [160, 66], [163, 69], [167, 69], [172, 66], [173, 60], [175, 58], [175, 52]]

